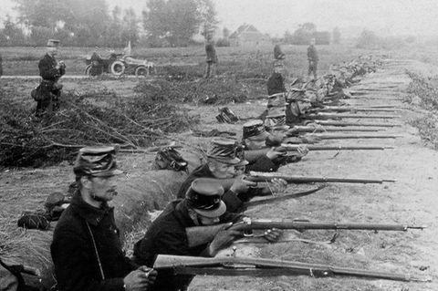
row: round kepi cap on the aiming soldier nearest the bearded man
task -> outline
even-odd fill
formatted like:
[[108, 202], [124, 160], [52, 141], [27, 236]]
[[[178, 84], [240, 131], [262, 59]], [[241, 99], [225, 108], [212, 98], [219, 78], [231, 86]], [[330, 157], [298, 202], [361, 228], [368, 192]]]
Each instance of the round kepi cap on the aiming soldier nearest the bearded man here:
[[185, 193], [185, 199], [194, 212], [215, 218], [226, 211], [225, 203], [221, 199], [222, 195], [224, 195], [224, 187], [220, 182], [211, 178], [198, 178]]

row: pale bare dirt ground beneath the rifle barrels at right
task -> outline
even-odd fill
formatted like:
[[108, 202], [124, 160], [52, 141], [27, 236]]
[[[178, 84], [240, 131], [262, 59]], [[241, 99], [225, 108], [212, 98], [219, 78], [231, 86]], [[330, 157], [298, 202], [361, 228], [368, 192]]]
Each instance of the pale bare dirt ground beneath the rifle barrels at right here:
[[[390, 60], [379, 72], [364, 78], [351, 89], [396, 85], [391, 92], [375, 91], [351, 99], [351, 104], [392, 104], [405, 107], [401, 98], [409, 84], [405, 68], [418, 63]], [[394, 94], [395, 92], [395, 94]], [[373, 99], [370, 99], [370, 98]], [[254, 105], [255, 106], [255, 105]], [[256, 106], [255, 106], [256, 107]], [[258, 106], [258, 107], [261, 107]], [[241, 111], [240, 106], [233, 108]], [[242, 108], [243, 109], [243, 108]], [[295, 175], [395, 179], [385, 184], [330, 184], [328, 188], [287, 203], [249, 209], [251, 217], [282, 219], [306, 218], [311, 221], [414, 223], [427, 225], [424, 231], [406, 233], [341, 231], [334, 244], [289, 242], [260, 247], [236, 244], [237, 255], [251, 254], [318, 264], [339, 265], [417, 276], [432, 276], [432, 283], [401, 283], [351, 277], [310, 278], [308, 276], [197, 276], [190, 290], [438, 290], [438, 152], [425, 148], [415, 129], [407, 125], [412, 111], [401, 109], [401, 127], [383, 132], [398, 134], [396, 140], [330, 140], [327, 144], [381, 144], [394, 146], [388, 151], [314, 151], [297, 164], [280, 171]], [[368, 120], [360, 120], [368, 121]], [[374, 121], [375, 122], [375, 121]], [[385, 122], [384, 120], [382, 122]], [[327, 140], [328, 141], [328, 140]], [[290, 189], [293, 191], [293, 189]], [[289, 232], [288, 235], [290, 235]], [[327, 241], [332, 232], [293, 233], [297, 238]], [[228, 250], [228, 253], [230, 251]], [[229, 255], [229, 254], [228, 254]], [[424, 271], [422, 271], [425, 269]]]

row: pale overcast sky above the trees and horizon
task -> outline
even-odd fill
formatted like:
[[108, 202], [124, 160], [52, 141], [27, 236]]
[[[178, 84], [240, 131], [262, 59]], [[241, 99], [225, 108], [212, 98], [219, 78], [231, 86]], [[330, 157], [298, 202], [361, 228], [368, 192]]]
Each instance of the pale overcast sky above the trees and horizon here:
[[[74, 1], [74, 0], [69, 0]], [[319, 31], [338, 26], [346, 33], [363, 28], [381, 36], [438, 35], [438, 0], [213, 0], [219, 27], [234, 31], [252, 24], [262, 33], [283, 36], [312, 22]], [[107, 0], [110, 7], [133, 6], [141, 13], [146, 0]], [[12, 0], [0, 0], [0, 17], [11, 13]]]

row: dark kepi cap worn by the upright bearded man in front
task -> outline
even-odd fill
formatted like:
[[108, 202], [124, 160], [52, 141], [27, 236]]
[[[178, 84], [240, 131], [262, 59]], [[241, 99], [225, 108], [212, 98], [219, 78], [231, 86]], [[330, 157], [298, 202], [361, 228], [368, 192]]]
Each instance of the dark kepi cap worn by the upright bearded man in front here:
[[117, 169], [114, 147], [85, 147], [79, 150], [73, 171], [76, 176], [110, 177], [123, 171]]

